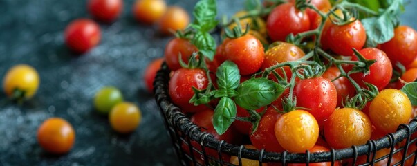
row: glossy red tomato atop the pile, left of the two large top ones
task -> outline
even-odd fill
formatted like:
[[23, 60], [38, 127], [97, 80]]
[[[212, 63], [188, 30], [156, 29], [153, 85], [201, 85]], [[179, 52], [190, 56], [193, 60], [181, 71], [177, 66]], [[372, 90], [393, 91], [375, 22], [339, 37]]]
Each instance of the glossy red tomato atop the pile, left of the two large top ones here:
[[272, 41], [285, 41], [290, 33], [297, 35], [309, 29], [308, 15], [297, 10], [293, 3], [284, 3], [275, 7], [266, 20], [266, 30]]

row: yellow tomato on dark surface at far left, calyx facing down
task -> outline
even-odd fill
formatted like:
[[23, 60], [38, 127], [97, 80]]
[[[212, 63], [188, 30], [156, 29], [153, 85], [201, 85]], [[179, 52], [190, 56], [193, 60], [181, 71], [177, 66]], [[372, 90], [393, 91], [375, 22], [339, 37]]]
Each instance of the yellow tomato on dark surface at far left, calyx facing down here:
[[18, 64], [3, 77], [3, 89], [9, 98], [32, 98], [39, 87], [39, 74], [32, 66]]

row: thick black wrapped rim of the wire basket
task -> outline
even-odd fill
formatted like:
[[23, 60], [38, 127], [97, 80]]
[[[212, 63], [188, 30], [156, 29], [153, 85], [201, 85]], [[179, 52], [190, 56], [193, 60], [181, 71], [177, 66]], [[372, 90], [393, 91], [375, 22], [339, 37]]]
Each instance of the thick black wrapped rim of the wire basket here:
[[[391, 147], [390, 154], [382, 157], [389, 158], [390, 160], [393, 155], [394, 146], [398, 142], [406, 140], [406, 145], [410, 145], [411, 143], [417, 144], [416, 140], [411, 141], [411, 134], [416, 133], [417, 131], [417, 117], [415, 117], [409, 124], [401, 124], [395, 133], [389, 133], [378, 140], [368, 140], [364, 145], [353, 145], [352, 147], [344, 149], [331, 148], [330, 151], [314, 153], [311, 153], [308, 150], [306, 153], [291, 153], [288, 151], [277, 153], [265, 151], [264, 149], [246, 149], [243, 145], [233, 145], [224, 140], [216, 140], [211, 133], [200, 131], [199, 127], [192, 123], [189, 118], [180, 111], [180, 108], [172, 103], [169, 93], [167, 92], [169, 73], [170, 69], [166, 62], [163, 62], [154, 80], [155, 99], [162, 116], [164, 116], [167, 122], [171, 122], [183, 133], [186, 133], [190, 140], [198, 142], [202, 147], [216, 149], [219, 152], [219, 155], [221, 155], [221, 153], [226, 153], [233, 156], [241, 156], [242, 158], [259, 160], [260, 163], [281, 162], [285, 165], [286, 163], [317, 163], [331, 161], [333, 165], [335, 161], [347, 158], [354, 158], [355, 162], [358, 156], [367, 154], [368, 159], [371, 157], [372, 163], [374, 163], [376, 162], [376, 153], [373, 153], [371, 156], [371, 152]], [[407, 149], [408, 146], [405, 146], [398, 148], [396, 151], [407, 151]], [[411, 155], [413, 154], [410, 154], [410, 156]], [[219, 158], [219, 160], [221, 160], [221, 158]], [[402, 163], [404, 162], [405, 160], [402, 160]]]

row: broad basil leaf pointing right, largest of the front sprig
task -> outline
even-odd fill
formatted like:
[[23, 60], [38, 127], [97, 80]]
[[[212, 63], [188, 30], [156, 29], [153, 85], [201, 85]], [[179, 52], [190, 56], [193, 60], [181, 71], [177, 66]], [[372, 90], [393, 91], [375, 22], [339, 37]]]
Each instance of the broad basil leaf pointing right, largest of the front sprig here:
[[243, 109], [259, 109], [274, 100], [284, 91], [284, 86], [266, 78], [251, 78], [237, 88], [234, 102]]

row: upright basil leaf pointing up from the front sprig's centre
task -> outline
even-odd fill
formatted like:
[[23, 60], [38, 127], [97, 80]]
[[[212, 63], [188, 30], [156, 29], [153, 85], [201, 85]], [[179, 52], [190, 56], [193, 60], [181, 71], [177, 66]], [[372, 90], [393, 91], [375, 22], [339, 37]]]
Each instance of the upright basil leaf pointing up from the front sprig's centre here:
[[239, 68], [231, 61], [225, 61], [216, 71], [217, 85], [219, 89], [237, 89], [241, 80]]

